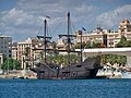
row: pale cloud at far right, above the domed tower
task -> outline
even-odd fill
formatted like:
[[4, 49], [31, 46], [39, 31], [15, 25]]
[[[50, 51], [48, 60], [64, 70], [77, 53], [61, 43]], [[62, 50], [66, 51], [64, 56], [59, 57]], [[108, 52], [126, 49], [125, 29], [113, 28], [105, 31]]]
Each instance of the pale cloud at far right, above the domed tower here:
[[102, 24], [106, 28], [114, 28], [115, 26], [118, 26], [123, 19], [131, 20], [131, 4], [126, 4], [114, 11], [98, 15], [96, 17], [96, 23]]

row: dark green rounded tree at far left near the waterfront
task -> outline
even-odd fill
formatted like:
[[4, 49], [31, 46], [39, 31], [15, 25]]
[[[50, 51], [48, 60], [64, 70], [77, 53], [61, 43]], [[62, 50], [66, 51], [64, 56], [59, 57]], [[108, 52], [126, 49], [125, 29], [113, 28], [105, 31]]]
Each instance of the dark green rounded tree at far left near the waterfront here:
[[17, 60], [13, 60], [11, 58], [7, 59], [1, 65], [3, 70], [21, 70], [21, 63]]

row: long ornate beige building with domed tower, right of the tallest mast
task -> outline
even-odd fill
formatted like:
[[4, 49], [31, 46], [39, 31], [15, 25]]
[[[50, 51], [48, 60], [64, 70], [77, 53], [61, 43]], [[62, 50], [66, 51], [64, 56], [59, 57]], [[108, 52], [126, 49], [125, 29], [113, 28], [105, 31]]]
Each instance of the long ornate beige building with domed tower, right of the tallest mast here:
[[[82, 30], [75, 33], [75, 42], [81, 41], [81, 33]], [[82, 41], [90, 41], [91, 44], [93, 41], [98, 41], [107, 48], [114, 48], [116, 47], [116, 44], [120, 41], [122, 35], [124, 35], [128, 40], [131, 39], [131, 23], [128, 20], [122, 20], [122, 22], [119, 24], [118, 32], [97, 27], [97, 29], [93, 30], [92, 33], [82, 34]]]

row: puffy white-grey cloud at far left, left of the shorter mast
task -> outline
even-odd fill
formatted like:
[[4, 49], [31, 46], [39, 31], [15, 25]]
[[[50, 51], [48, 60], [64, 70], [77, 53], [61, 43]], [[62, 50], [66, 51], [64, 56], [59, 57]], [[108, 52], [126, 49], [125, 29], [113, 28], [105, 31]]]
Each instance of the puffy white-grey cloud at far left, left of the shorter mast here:
[[3, 34], [9, 36], [19, 35], [20, 38], [16, 37], [14, 39], [21, 40], [25, 37], [25, 35], [27, 37], [36, 35], [36, 29], [38, 29], [39, 24], [41, 23], [41, 17], [34, 16], [23, 10], [13, 8], [1, 13], [0, 30], [4, 30]]

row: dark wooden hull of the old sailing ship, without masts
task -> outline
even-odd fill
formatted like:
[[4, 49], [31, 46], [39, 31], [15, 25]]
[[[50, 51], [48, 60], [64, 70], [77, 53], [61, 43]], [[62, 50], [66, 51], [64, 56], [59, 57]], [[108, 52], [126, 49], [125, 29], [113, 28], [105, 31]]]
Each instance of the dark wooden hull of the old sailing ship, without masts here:
[[100, 65], [100, 59], [90, 58], [82, 63], [71, 64], [67, 68], [51, 69], [47, 64], [40, 64], [35, 71], [39, 79], [84, 79], [95, 78]]

